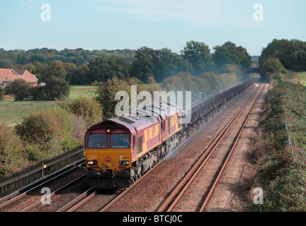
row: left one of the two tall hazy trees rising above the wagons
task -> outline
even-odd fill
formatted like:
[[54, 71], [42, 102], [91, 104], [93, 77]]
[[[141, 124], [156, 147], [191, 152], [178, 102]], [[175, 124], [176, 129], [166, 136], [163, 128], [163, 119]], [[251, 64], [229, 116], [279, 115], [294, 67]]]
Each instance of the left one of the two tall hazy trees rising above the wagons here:
[[204, 42], [186, 42], [186, 47], [181, 51], [183, 59], [187, 59], [192, 65], [196, 75], [214, 69], [215, 64], [210, 56], [210, 49]]

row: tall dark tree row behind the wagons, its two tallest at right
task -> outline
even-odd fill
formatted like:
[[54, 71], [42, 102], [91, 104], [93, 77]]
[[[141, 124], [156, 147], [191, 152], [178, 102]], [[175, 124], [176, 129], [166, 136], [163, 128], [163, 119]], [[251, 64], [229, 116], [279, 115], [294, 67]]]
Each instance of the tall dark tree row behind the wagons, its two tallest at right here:
[[237, 47], [233, 42], [225, 42], [214, 49], [215, 52], [211, 53], [208, 45], [196, 41], [187, 42], [180, 55], [171, 52], [171, 49], [142, 47], [136, 51], [130, 74], [142, 81], [154, 77], [157, 82], [162, 82], [164, 78], [180, 72], [199, 76], [204, 72], [220, 73], [226, 64], [235, 64], [240, 70], [251, 65], [251, 56], [246, 49]]

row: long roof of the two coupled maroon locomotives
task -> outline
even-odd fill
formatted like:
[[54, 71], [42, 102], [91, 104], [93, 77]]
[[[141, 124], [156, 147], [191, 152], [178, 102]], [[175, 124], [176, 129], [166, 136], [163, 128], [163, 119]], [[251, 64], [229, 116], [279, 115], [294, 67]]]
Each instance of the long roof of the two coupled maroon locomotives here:
[[119, 117], [102, 121], [99, 124], [91, 126], [88, 132], [105, 127], [121, 127], [121, 129], [131, 132], [135, 130], [140, 131], [152, 124], [156, 124], [158, 121], [161, 121], [161, 119], [176, 114], [176, 112], [180, 112], [180, 109], [176, 109], [176, 105], [169, 102], [162, 102], [159, 106], [147, 106], [145, 109], [138, 110], [137, 112], [130, 112]]

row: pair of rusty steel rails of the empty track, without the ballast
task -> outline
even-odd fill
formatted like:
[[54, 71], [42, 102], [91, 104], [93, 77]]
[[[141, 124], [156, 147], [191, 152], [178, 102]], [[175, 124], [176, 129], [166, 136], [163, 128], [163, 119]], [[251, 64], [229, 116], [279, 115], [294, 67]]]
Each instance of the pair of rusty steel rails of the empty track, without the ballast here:
[[[213, 141], [209, 147], [205, 150], [203, 155], [198, 159], [198, 161], [193, 165], [191, 171], [186, 174], [185, 177], [181, 180], [181, 182], [176, 186], [174, 191], [171, 192], [168, 198], [166, 198], [166, 201], [162, 204], [162, 206], [159, 207], [157, 210], [158, 212], [171, 212], [176, 210], [186, 210], [184, 208], [176, 208], [176, 206], [179, 205], [180, 202], [183, 200], [183, 196], [188, 191], [189, 187], [193, 182], [196, 181], [198, 175], [203, 171], [203, 167], [207, 164], [207, 162], [210, 160], [212, 155], [215, 153], [215, 150], [220, 147], [222, 144], [222, 141], [225, 140], [227, 134], [232, 130], [232, 127], [234, 126], [235, 122], [239, 119], [239, 117], [242, 116], [242, 113], [245, 110], [248, 110], [248, 113], [246, 114], [246, 117], [244, 116], [244, 123], [239, 129], [238, 135], [234, 138], [234, 141], [232, 145], [228, 146], [228, 151], [225, 152], [225, 161], [220, 162], [220, 167], [217, 172], [217, 176], [212, 179], [212, 186], [208, 186], [208, 189], [206, 191], [202, 191], [203, 197], [200, 198], [200, 201], [198, 201], [198, 205], [196, 210], [203, 212], [205, 211], [206, 206], [208, 205], [208, 202], [210, 201], [210, 198], [215, 191], [215, 188], [220, 181], [220, 178], [222, 177], [222, 174], [225, 172], [225, 169], [227, 167], [227, 163], [229, 162], [230, 157], [232, 156], [232, 153], [234, 152], [234, 148], [236, 147], [237, 143], [239, 142], [239, 138], [242, 135], [242, 132], [244, 130], [244, 126], [246, 126], [246, 123], [251, 116], [251, 113], [253, 112], [254, 107], [256, 106], [256, 103], [259, 100], [259, 97], [261, 96], [262, 90], [264, 88], [264, 85], [261, 85], [261, 87], [258, 89], [259, 92], [254, 92], [249, 99], [245, 102], [245, 104], [237, 111], [236, 114], [232, 117], [232, 119], [228, 122], [228, 124], [225, 126], [224, 129], [220, 132], [219, 136]], [[255, 100], [254, 100], [255, 99]], [[253, 101], [251, 101], [253, 100]], [[250, 106], [250, 109], [247, 109], [248, 106]], [[203, 172], [202, 172], [203, 173]], [[196, 182], [195, 182], [196, 183]], [[189, 194], [189, 196], [191, 196]], [[199, 205], [200, 204], [200, 205]], [[188, 204], [189, 205], [189, 204]]]

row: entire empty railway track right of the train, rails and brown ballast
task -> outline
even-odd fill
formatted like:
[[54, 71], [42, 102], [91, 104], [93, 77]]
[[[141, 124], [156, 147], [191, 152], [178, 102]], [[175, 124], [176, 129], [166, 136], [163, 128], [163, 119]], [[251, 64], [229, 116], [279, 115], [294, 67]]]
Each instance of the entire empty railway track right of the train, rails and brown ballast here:
[[[258, 92], [255, 91], [254, 95], [251, 95], [249, 100], [245, 102], [236, 114], [234, 114], [227, 126], [222, 129], [219, 136], [209, 145], [203, 155], [201, 155], [195, 165], [193, 165], [192, 169], [186, 174], [157, 211], [203, 212], [205, 210], [215, 187], [222, 177], [222, 174], [225, 172], [227, 163], [234, 152], [234, 148], [239, 141], [244, 126], [259, 100], [263, 87], [264, 85], [261, 85], [261, 88], [256, 90]], [[239, 120], [240, 122], [238, 122], [239, 117], [241, 118]], [[238, 122], [237, 125], [235, 125], [236, 122]], [[233, 129], [234, 126], [236, 126], [237, 129]], [[216, 154], [215, 151], [217, 152]], [[211, 160], [213, 157], [214, 160]], [[210, 165], [208, 161], [211, 161]], [[213, 174], [213, 172], [215, 172], [215, 174]]]

